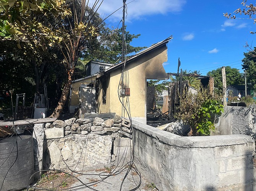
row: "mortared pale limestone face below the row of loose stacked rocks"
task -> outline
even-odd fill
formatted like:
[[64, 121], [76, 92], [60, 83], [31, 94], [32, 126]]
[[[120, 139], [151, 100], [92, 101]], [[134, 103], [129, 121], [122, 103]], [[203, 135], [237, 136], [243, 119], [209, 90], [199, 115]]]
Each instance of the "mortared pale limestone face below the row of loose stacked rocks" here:
[[63, 138], [47, 140], [45, 165], [49, 169], [83, 171], [92, 166], [111, 162], [111, 135], [70, 134]]

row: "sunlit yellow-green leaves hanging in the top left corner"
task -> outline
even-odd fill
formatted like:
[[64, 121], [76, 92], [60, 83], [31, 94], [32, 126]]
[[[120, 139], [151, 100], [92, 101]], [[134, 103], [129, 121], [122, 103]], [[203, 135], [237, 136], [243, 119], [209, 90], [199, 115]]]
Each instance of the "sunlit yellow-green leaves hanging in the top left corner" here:
[[15, 40], [19, 48], [20, 41], [31, 48], [60, 43], [65, 33], [39, 21], [50, 14], [63, 19], [71, 12], [63, 0], [1, 0], [1, 40]]

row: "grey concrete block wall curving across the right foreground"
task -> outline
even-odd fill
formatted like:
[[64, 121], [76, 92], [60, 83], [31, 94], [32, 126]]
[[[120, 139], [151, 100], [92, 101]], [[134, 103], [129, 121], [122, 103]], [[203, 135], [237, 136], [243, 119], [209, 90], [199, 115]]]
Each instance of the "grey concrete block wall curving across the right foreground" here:
[[253, 190], [250, 136], [180, 137], [135, 121], [133, 129], [136, 165], [159, 190]]

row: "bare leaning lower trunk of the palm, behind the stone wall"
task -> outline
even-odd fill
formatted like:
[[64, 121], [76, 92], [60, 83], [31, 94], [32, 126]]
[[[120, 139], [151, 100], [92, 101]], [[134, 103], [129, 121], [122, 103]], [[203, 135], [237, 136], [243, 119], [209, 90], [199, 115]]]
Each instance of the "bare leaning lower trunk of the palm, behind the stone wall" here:
[[58, 102], [58, 105], [55, 108], [55, 110], [53, 111], [50, 118], [59, 118], [60, 117], [60, 115], [62, 113], [62, 110], [64, 108], [64, 105], [66, 103], [66, 100], [68, 98], [68, 93], [70, 91], [73, 73], [74, 73], [74, 68], [71, 68], [68, 71], [68, 80], [66, 81], [66, 84], [65, 84], [64, 89], [62, 91], [62, 95], [60, 96], [60, 100]]

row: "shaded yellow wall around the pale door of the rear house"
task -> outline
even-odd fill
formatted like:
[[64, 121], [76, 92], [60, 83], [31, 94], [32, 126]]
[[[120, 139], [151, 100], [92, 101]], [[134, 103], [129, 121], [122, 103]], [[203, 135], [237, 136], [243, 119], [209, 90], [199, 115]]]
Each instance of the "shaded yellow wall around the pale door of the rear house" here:
[[88, 85], [92, 81], [95, 81], [96, 76], [92, 76], [91, 78], [86, 78], [84, 80], [76, 81], [71, 84], [71, 97], [70, 97], [70, 105], [71, 106], [78, 106], [79, 105], [79, 87], [82, 84]]

